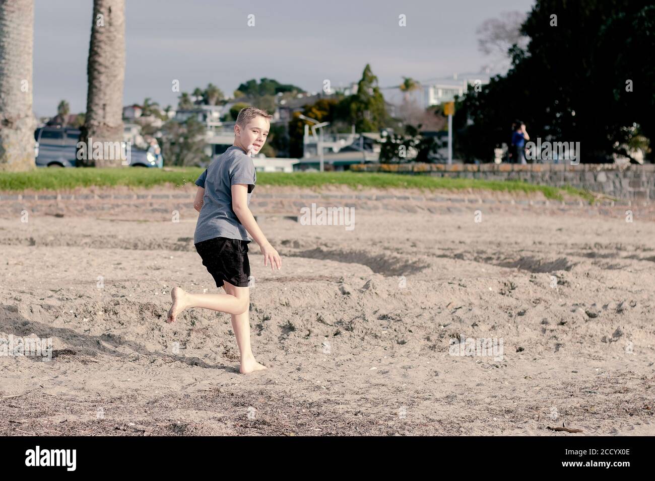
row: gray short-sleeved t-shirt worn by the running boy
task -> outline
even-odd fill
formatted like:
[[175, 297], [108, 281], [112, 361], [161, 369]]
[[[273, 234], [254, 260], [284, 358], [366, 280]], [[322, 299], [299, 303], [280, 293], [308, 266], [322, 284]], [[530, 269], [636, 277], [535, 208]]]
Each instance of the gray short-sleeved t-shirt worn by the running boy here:
[[256, 181], [255, 164], [240, 147], [233, 145], [217, 157], [196, 180], [196, 185], [205, 191], [193, 243], [216, 237], [250, 241], [248, 231], [232, 210], [232, 186], [248, 184], [250, 205]]

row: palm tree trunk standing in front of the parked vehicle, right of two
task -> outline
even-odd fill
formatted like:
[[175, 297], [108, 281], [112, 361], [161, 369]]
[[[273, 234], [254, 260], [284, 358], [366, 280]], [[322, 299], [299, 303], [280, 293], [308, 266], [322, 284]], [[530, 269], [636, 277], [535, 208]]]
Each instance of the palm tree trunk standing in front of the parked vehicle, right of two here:
[[[86, 120], [81, 140], [92, 150], [92, 143], [121, 142], [122, 96], [125, 78], [125, 1], [94, 0], [91, 43], [88, 51], [86, 73]], [[90, 155], [83, 165], [96, 167], [121, 167], [121, 158], [103, 150], [101, 158]], [[100, 149], [98, 150], [100, 151]]]

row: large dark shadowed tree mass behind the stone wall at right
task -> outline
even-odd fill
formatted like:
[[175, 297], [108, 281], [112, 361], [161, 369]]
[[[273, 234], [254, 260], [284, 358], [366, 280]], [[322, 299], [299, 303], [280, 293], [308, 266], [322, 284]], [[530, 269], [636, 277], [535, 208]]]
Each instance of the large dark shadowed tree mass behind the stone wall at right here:
[[655, 65], [642, 52], [655, 50], [653, 11], [648, 0], [538, 0], [508, 73], [458, 100], [459, 154], [491, 160], [515, 119], [535, 140], [580, 142], [582, 162], [611, 161], [635, 124], [652, 140]]

